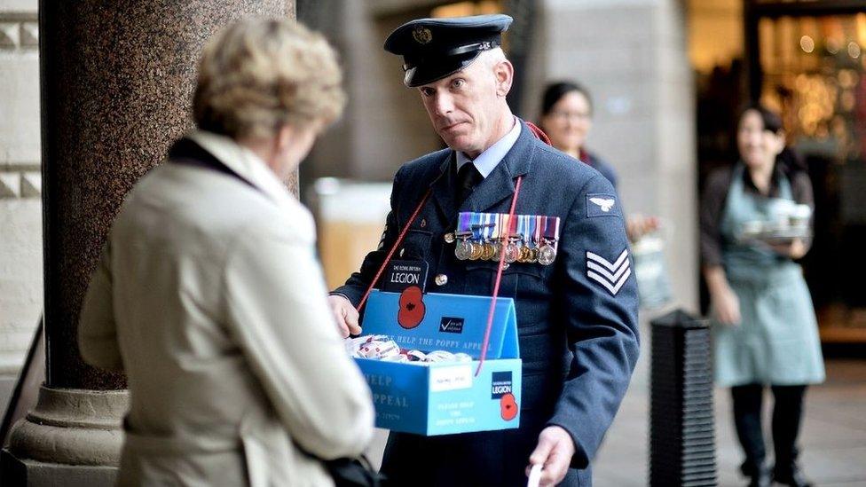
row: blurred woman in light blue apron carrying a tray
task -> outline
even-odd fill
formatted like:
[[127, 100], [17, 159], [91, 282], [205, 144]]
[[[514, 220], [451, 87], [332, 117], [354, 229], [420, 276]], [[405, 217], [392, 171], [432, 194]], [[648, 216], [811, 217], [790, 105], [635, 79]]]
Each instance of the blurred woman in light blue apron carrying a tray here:
[[[806, 172], [784, 162], [782, 119], [764, 106], [744, 110], [736, 131], [740, 161], [707, 179], [701, 257], [714, 318], [715, 378], [731, 388], [737, 438], [750, 485], [806, 486], [796, 446], [808, 384], [824, 380], [815, 310], [799, 264], [809, 240], [765, 245], [738, 239], [748, 222], [773, 221], [778, 200], [813, 206]], [[761, 400], [775, 397], [775, 467], [765, 465]]]

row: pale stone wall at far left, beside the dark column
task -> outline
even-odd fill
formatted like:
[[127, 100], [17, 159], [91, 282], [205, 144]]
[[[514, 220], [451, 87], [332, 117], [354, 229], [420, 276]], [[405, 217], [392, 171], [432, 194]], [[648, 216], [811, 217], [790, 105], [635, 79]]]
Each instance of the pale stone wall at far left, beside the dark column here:
[[43, 306], [36, 0], [0, 2], [0, 405]]

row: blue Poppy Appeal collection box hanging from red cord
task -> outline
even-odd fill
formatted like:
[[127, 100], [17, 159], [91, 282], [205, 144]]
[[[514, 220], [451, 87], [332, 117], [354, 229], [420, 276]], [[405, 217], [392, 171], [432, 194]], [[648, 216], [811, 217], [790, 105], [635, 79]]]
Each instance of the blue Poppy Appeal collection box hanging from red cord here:
[[[487, 356], [476, 376], [491, 297], [423, 295], [413, 306], [417, 326], [401, 326], [400, 294], [374, 291], [366, 303], [365, 334], [387, 334], [403, 349], [446, 350], [472, 362], [411, 363], [356, 358], [376, 410], [376, 426], [425, 436], [517, 428], [521, 360], [514, 300], [498, 298]], [[420, 318], [423, 316], [423, 318]]]

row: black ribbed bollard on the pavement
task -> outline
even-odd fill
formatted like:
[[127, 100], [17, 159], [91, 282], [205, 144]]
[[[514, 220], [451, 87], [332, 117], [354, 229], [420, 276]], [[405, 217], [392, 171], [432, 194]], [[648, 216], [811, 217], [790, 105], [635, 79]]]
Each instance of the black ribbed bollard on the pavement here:
[[650, 324], [650, 486], [716, 485], [707, 321], [676, 310]]

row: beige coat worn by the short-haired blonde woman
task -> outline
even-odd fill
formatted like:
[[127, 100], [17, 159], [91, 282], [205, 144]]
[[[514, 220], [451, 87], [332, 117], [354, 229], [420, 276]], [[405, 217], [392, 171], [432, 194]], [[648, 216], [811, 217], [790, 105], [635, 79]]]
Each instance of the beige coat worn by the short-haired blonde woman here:
[[[163, 164], [130, 192], [84, 301], [84, 359], [129, 378], [120, 484], [330, 485], [373, 434], [310, 213], [230, 139], [194, 141], [255, 187]], [[300, 448], [299, 448], [300, 447]]]

